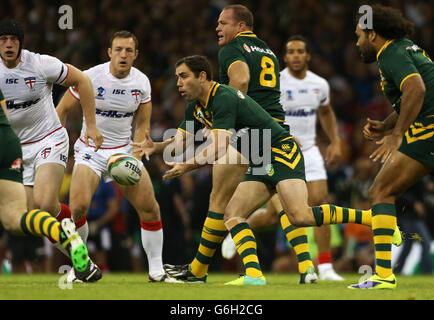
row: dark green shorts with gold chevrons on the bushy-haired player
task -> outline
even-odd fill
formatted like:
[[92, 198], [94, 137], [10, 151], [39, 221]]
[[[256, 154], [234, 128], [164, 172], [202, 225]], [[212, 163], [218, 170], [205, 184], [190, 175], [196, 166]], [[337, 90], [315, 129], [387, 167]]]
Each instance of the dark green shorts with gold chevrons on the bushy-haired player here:
[[415, 121], [405, 132], [400, 152], [434, 167], [434, 117]]

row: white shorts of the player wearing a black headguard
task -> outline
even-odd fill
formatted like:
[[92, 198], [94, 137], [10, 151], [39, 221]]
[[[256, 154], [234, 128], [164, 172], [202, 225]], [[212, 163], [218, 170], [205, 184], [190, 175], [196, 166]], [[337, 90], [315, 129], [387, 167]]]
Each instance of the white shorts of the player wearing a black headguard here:
[[58, 163], [66, 168], [69, 152], [69, 137], [65, 128], [59, 127], [38, 141], [24, 143], [23, 184], [33, 186], [36, 169], [46, 163]]

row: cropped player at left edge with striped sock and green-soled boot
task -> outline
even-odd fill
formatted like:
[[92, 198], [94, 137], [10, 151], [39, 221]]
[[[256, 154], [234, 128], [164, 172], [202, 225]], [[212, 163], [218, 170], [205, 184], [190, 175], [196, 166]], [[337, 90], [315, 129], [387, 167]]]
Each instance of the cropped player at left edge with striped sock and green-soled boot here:
[[88, 254], [74, 222], [67, 218], [60, 223], [43, 210], [27, 210], [21, 144], [11, 129], [1, 90], [0, 105], [0, 223], [9, 232], [46, 236], [59, 243], [69, 253], [78, 277], [83, 279], [88, 273]]

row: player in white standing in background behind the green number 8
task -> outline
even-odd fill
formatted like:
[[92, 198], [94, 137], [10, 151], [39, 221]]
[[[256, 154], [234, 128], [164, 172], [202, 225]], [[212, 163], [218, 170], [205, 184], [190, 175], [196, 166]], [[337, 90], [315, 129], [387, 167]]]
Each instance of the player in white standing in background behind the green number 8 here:
[[[315, 144], [317, 116], [330, 140], [326, 150], [327, 164], [335, 162], [341, 156], [341, 146], [336, 117], [330, 106], [329, 85], [327, 80], [308, 70], [309, 60], [310, 48], [307, 40], [303, 36], [292, 36], [285, 44], [286, 68], [280, 72], [280, 102], [285, 111], [285, 124], [291, 128], [291, 134], [298, 139], [303, 152], [309, 205], [316, 206], [329, 201], [324, 159]], [[255, 229], [281, 220], [284, 214], [276, 195], [267, 204], [267, 209], [256, 211], [247, 221], [250, 227]], [[282, 227], [292, 228], [284, 222], [281, 224]], [[343, 280], [331, 263], [330, 226], [315, 228], [314, 234], [319, 251], [320, 279]], [[236, 247], [228, 235], [222, 243], [222, 255], [230, 259], [235, 253]]]

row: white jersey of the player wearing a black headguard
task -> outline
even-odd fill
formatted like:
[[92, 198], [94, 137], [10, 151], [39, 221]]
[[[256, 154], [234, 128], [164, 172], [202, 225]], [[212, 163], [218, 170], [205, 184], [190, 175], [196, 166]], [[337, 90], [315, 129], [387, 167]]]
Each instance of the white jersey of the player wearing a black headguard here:
[[22, 144], [39, 141], [61, 128], [53, 103], [53, 83], [65, 80], [68, 67], [59, 59], [22, 50], [12, 69], [0, 61], [0, 88], [11, 126]]

